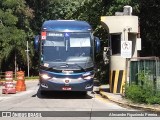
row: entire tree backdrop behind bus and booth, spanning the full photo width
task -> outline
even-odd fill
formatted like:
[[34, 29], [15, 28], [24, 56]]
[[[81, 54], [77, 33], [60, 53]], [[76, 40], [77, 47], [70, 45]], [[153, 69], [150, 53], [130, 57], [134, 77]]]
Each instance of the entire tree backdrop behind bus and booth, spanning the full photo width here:
[[39, 34], [42, 23], [48, 19], [84, 20], [92, 25], [94, 35], [101, 40], [102, 50], [96, 55], [96, 63], [100, 69], [100, 79], [105, 79], [107, 71], [103, 65], [102, 51], [104, 46], [108, 46], [108, 34], [101, 26], [100, 17], [114, 15], [117, 11], [122, 12], [125, 5], [132, 6], [133, 15], [138, 15], [140, 18], [141, 38], [144, 40], [142, 55], [159, 56], [160, 28], [157, 26], [160, 24], [160, 2], [158, 0], [1, 0], [0, 63], [13, 61], [14, 56], [11, 53], [16, 51], [19, 57], [17, 63], [21, 68], [26, 67], [25, 44], [28, 40], [30, 66], [34, 64], [31, 69], [38, 68], [32, 41], [34, 34]]

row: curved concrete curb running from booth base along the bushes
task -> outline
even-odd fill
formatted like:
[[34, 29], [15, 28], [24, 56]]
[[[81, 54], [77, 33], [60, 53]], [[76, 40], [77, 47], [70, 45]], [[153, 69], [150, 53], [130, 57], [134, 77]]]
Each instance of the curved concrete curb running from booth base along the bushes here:
[[117, 99], [113, 98], [112, 96], [108, 95], [107, 92], [104, 92], [101, 89], [100, 89], [99, 93], [102, 97], [109, 99], [110, 101], [115, 102], [120, 105], [132, 107], [132, 108], [136, 108], [136, 109], [141, 109], [141, 110], [146, 110], [146, 111], [160, 112], [160, 108], [155, 108], [155, 107], [151, 107], [151, 106], [144, 106], [141, 104], [127, 103], [124, 101], [117, 100]]

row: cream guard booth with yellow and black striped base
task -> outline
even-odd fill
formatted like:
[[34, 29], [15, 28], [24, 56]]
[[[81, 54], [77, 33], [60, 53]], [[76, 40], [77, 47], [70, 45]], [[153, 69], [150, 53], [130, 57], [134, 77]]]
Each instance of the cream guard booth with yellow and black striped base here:
[[129, 60], [137, 57], [138, 50], [141, 50], [138, 17], [132, 15], [132, 7], [124, 6], [124, 11], [116, 12], [115, 16], [101, 16], [101, 24], [109, 33], [109, 46], [104, 50], [110, 53], [110, 92], [123, 93], [128, 79]]

